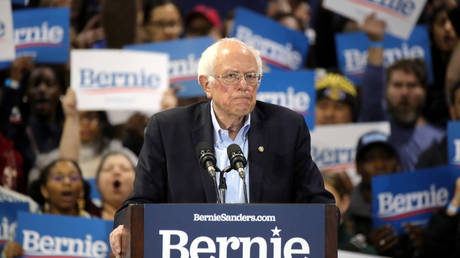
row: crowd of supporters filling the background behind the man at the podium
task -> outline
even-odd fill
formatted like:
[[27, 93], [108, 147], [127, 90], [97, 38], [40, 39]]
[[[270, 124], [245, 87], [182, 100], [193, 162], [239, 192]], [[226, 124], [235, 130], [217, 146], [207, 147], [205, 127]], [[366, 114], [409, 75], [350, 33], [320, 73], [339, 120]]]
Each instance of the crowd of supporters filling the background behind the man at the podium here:
[[[70, 7], [72, 49], [199, 36], [218, 40], [230, 35], [235, 15], [229, 10], [221, 18], [217, 9], [202, 4], [183, 10], [172, 0], [36, 0], [26, 8], [36, 7]], [[455, 194], [449, 205], [434, 213], [427, 229], [408, 224], [404, 235], [391, 226], [372, 226], [371, 199], [375, 175], [448, 163], [447, 122], [460, 120], [460, 24], [455, 19], [459, 10], [456, 0], [427, 0], [418, 20], [429, 30], [430, 83], [426, 60], [400, 59], [385, 66], [386, 24], [375, 14], [358, 24], [321, 5], [313, 8], [306, 0], [267, 1], [268, 18], [309, 38], [304, 68], [314, 69], [316, 79], [315, 85], [305, 87], [316, 89], [315, 126], [390, 124], [389, 135], [370, 132], [356, 143], [358, 184], [353, 185], [346, 173], [322, 171], [341, 213], [339, 249], [389, 257], [460, 256], [460, 179], [452, 182]], [[363, 31], [371, 42], [360, 85], [338, 69], [334, 36], [349, 31]], [[69, 69], [69, 64], [36, 63], [24, 55], [0, 71], [0, 191], [22, 194], [17, 199], [38, 204], [37, 212], [113, 220], [134, 190], [149, 117], [134, 113], [113, 124], [107, 110], [77, 110]], [[189, 98], [176, 92], [171, 88], [162, 96], [162, 110], [209, 97], [207, 91]], [[90, 198], [88, 179], [96, 180], [100, 206]], [[21, 252], [20, 245], [11, 242], [3, 255]]]

